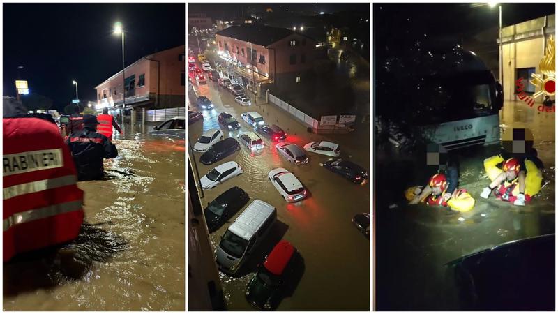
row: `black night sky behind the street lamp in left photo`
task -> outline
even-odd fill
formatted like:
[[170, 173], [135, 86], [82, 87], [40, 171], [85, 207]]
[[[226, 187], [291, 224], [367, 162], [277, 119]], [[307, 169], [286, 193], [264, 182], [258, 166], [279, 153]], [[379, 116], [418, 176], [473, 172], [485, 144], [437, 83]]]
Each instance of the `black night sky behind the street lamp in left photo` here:
[[183, 3], [3, 3], [3, 95], [15, 96], [17, 66], [31, 92], [54, 100], [96, 100], [94, 87], [122, 68], [121, 22], [126, 66], [155, 51], [184, 45]]

